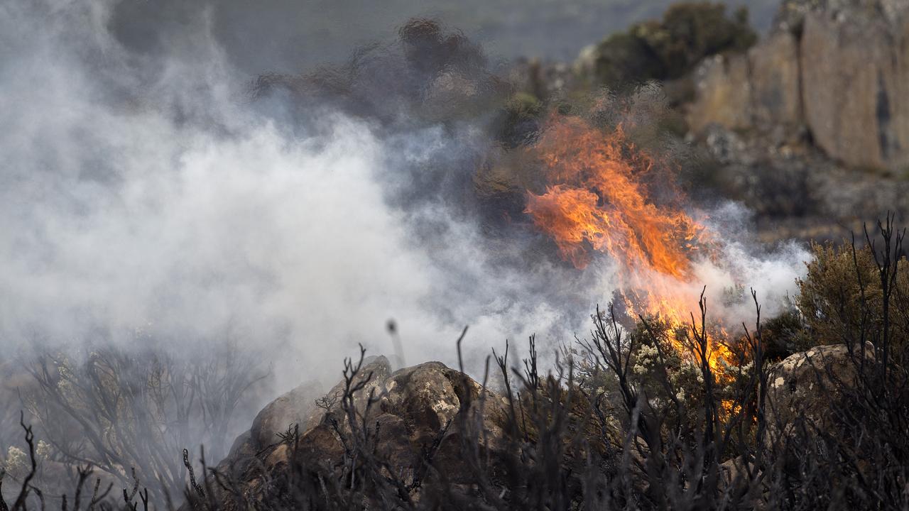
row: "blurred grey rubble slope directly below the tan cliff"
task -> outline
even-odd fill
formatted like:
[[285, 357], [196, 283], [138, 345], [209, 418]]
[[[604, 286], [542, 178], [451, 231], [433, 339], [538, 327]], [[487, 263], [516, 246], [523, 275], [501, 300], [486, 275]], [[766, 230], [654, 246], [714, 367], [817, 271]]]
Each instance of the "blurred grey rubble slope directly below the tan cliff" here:
[[715, 179], [724, 194], [757, 215], [765, 241], [838, 241], [862, 230], [855, 218], [909, 212], [909, 182], [899, 175], [855, 172], [800, 139], [781, 143], [780, 136], [711, 124], [696, 139], [719, 165]]

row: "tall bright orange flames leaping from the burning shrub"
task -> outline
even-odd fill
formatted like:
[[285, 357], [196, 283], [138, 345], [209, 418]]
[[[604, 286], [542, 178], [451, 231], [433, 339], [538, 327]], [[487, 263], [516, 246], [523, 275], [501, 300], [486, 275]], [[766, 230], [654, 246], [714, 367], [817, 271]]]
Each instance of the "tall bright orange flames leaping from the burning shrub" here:
[[[709, 255], [713, 233], [684, 211], [684, 195], [660, 172], [665, 165], [636, 147], [623, 125], [604, 132], [578, 117], [551, 118], [527, 151], [545, 183], [543, 193], [527, 192], [524, 213], [560, 255], [579, 269], [597, 253], [610, 255], [633, 317], [689, 323], [700, 292], [695, 258]], [[711, 345], [709, 362], [719, 370], [731, 354]]]

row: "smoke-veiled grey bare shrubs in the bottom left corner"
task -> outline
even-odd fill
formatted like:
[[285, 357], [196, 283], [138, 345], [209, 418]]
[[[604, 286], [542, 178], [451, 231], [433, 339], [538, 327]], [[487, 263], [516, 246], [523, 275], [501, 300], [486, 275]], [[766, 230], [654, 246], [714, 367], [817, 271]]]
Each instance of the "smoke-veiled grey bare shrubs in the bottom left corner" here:
[[25, 444], [9, 447], [0, 468], [7, 483], [22, 486], [21, 495], [44, 495], [53, 507], [67, 506], [61, 494], [76, 506], [93, 484], [99, 506], [121, 487], [132, 487], [135, 500], [139, 481], [155, 502], [180, 494], [186, 468], [175, 453], [205, 445], [225, 456], [240, 426], [236, 416], [259, 405], [258, 387], [268, 376], [233, 345], [185, 357], [113, 346], [84, 357], [44, 353], [19, 369], [28, 377], [20, 378], [25, 386], [4, 415], [22, 409], [17, 418], [28, 434]]

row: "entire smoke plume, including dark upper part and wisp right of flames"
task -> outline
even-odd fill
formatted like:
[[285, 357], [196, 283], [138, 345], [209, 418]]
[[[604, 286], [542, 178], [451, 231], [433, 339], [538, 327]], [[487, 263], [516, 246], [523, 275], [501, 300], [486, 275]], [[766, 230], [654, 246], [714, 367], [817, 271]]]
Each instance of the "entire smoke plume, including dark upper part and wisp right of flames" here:
[[[357, 343], [391, 352], [389, 318], [408, 363], [450, 362], [464, 325], [477, 353], [556, 346], [613, 296], [608, 257], [565, 264], [520, 198], [484, 193], [539, 126], [503, 127], [508, 85], [463, 35], [415, 21], [347, 65], [255, 78], [205, 12], [148, 53], [112, 35], [113, 6], [0, 6], [5, 353], [230, 339], [287, 387], [334, 379]], [[734, 240], [746, 224], [711, 218]], [[745, 241], [696, 286], [772, 308], [804, 254]]]

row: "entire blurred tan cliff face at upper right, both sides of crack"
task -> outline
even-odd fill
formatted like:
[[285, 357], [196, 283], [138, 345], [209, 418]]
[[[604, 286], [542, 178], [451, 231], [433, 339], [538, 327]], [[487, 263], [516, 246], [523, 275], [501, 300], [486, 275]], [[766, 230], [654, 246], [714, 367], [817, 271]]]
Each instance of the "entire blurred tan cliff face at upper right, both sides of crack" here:
[[909, 165], [909, 2], [792, 0], [774, 30], [744, 55], [696, 72], [688, 112], [695, 133], [713, 123], [810, 135], [845, 165]]

